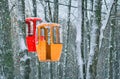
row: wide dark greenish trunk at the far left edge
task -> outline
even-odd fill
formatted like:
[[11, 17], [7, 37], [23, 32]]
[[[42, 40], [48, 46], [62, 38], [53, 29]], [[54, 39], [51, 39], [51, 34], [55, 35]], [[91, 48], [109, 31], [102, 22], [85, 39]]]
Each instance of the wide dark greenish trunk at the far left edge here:
[[0, 0], [0, 79], [13, 79], [13, 50], [8, 0]]

